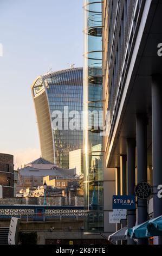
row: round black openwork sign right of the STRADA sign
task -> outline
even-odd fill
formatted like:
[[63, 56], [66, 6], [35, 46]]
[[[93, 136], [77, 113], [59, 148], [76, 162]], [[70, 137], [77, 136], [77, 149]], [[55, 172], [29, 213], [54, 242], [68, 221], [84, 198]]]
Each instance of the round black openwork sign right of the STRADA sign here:
[[140, 182], [135, 186], [135, 196], [139, 199], [145, 200], [150, 197], [152, 192], [152, 187], [147, 182]]

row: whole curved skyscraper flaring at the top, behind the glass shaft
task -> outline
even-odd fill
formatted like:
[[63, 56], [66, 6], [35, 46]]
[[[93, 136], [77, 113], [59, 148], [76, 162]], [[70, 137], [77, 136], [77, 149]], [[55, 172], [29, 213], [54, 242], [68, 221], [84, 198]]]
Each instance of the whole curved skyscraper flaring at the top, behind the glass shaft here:
[[[31, 86], [41, 155], [69, 168], [69, 151], [82, 149], [83, 69], [72, 68], [39, 76]], [[77, 111], [75, 113], [74, 111]], [[69, 127], [75, 117], [77, 129]], [[55, 125], [54, 120], [57, 119]]]

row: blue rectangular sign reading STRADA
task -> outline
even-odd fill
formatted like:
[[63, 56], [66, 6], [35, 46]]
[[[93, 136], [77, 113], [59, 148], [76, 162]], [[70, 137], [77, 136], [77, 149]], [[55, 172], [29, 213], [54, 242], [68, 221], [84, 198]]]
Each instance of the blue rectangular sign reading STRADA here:
[[113, 209], [135, 209], [135, 196], [113, 196]]

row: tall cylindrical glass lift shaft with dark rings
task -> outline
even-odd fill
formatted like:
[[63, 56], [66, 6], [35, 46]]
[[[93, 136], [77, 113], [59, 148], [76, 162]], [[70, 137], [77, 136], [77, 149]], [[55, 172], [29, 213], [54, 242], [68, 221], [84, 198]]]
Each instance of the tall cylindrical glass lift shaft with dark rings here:
[[102, 2], [86, 0], [84, 54], [85, 233], [103, 231]]

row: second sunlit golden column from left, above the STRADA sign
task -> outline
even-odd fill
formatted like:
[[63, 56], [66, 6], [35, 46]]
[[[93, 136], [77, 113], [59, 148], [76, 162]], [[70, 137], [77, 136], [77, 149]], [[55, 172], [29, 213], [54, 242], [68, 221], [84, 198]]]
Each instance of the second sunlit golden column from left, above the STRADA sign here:
[[120, 194], [127, 194], [127, 156], [120, 156]]

